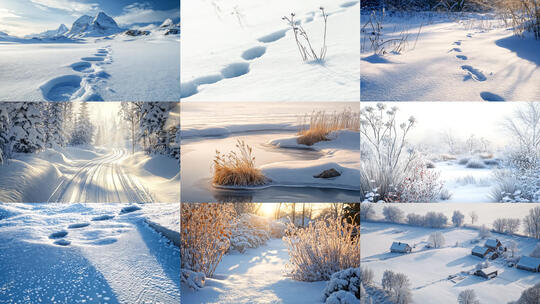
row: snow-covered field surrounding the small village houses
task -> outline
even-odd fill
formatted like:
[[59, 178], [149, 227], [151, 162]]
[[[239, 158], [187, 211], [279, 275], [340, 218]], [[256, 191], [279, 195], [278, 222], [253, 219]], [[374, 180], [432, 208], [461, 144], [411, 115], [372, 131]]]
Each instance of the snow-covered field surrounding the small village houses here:
[[[480, 219], [488, 213], [479, 213]], [[446, 245], [437, 249], [424, 248], [428, 236], [435, 231], [442, 232]], [[538, 240], [518, 236], [493, 234], [493, 237], [503, 244], [509, 240], [517, 242], [522, 255], [528, 255], [538, 243]], [[456, 303], [458, 294], [465, 289], [473, 289], [481, 303], [508, 303], [517, 300], [524, 289], [540, 282], [538, 273], [509, 268], [500, 258], [491, 261], [491, 265], [499, 270], [496, 278], [486, 280], [469, 274], [483, 261], [471, 255], [474, 246], [483, 246], [482, 240], [476, 243], [478, 239], [478, 231], [467, 228], [430, 229], [362, 222], [361, 265], [373, 270], [374, 282], [379, 287], [385, 270], [404, 273], [411, 282], [414, 303]], [[394, 241], [415, 247], [411, 254], [390, 253]], [[450, 280], [450, 275], [457, 276]]]

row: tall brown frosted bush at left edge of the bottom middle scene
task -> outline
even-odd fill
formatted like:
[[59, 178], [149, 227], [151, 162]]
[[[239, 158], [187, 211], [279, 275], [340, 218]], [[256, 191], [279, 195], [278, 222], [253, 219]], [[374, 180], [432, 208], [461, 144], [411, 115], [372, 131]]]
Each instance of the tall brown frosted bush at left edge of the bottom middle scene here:
[[181, 268], [212, 277], [229, 248], [233, 214], [230, 204], [182, 204]]

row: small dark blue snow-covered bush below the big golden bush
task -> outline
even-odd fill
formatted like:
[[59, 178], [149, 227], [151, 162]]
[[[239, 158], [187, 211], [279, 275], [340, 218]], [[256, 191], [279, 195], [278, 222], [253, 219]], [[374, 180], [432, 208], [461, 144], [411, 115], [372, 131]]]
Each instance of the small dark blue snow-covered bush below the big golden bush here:
[[326, 304], [353, 304], [360, 300], [360, 267], [338, 271], [324, 289]]

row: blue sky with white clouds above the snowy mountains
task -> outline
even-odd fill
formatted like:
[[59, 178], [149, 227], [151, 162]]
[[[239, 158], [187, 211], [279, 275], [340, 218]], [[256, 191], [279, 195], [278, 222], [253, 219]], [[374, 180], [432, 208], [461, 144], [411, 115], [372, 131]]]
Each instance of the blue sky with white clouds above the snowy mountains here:
[[0, 31], [23, 36], [71, 27], [82, 15], [103, 11], [120, 26], [180, 18], [180, 0], [0, 0]]

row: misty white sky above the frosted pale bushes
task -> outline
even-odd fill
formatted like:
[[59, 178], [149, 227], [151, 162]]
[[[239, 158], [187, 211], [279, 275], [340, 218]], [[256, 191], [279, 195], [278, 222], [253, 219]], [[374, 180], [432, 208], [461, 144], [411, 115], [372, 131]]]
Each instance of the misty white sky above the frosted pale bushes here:
[[[451, 130], [452, 134], [466, 140], [471, 134], [484, 137], [495, 146], [504, 146], [509, 141], [502, 121], [513, 114], [522, 103], [506, 102], [387, 102], [387, 107], [397, 106], [398, 120], [409, 116], [417, 119], [411, 132], [414, 143], [437, 143], [439, 134]], [[360, 107], [375, 106], [375, 102], [362, 102]]]

